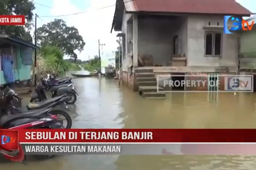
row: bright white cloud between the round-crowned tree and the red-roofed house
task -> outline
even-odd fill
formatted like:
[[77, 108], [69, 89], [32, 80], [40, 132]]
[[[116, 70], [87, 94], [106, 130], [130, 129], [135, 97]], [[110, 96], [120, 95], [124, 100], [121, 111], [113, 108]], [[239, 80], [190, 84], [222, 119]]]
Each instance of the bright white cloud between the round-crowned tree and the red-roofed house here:
[[[83, 10], [88, 12], [60, 17], [68, 26], [76, 27], [86, 42], [84, 51], [78, 55], [79, 59], [86, 60], [88, 55], [90, 57], [98, 55], [98, 39], [106, 44], [103, 47], [104, 53], [116, 49], [116, 33], [110, 34], [115, 9], [115, 6], [111, 5], [114, 4], [115, 0], [91, 0], [91, 6]], [[111, 7], [96, 10], [105, 6]], [[82, 12], [70, 0], [54, 0], [52, 7], [51, 15], [53, 16]]]

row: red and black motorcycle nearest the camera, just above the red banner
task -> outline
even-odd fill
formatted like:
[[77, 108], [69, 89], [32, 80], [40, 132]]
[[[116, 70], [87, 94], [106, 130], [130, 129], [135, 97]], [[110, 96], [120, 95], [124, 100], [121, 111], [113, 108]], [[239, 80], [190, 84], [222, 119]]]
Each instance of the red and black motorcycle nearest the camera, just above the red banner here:
[[[17, 97], [18, 95], [12, 89], [6, 89], [3, 93], [3, 97], [0, 99], [0, 103], [4, 103], [5, 105], [1, 105], [1, 111], [6, 111], [10, 109], [12, 106], [13, 97]], [[0, 117], [0, 127], [4, 129], [11, 130], [20, 130], [27, 128], [50, 128], [50, 129], [59, 129], [63, 127], [63, 121], [59, 120], [57, 115], [61, 111], [56, 112], [52, 110], [53, 108], [44, 108], [44, 109], [34, 109], [30, 111], [26, 111], [20, 114], [13, 115], [2, 115]], [[63, 111], [64, 112], [64, 111]], [[2, 113], [2, 112], [1, 112]], [[65, 112], [64, 112], [65, 113]], [[65, 113], [67, 114], [67, 113]], [[67, 114], [68, 115], [68, 114]], [[66, 128], [70, 129], [72, 127], [72, 120], [68, 115], [68, 126]], [[12, 152], [8, 150], [9, 152]], [[35, 155], [37, 158], [45, 159], [52, 158], [54, 155]], [[26, 159], [26, 157], [25, 157]]]

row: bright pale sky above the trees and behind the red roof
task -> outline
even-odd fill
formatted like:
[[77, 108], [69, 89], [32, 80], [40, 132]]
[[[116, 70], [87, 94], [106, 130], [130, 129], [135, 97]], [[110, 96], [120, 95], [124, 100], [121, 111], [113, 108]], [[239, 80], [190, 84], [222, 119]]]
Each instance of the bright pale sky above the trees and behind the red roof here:
[[[256, 0], [236, 1], [256, 13]], [[117, 32], [110, 34], [116, 0], [34, 0], [34, 2], [36, 3], [34, 13], [39, 16], [38, 27], [58, 18], [64, 20], [68, 26], [78, 29], [86, 43], [84, 50], [81, 53], [77, 52], [78, 59], [88, 60], [89, 57], [93, 58], [94, 55], [98, 55], [98, 40], [101, 44], [105, 44], [103, 50], [101, 49], [103, 54], [111, 53], [118, 47]], [[79, 12], [84, 13], [54, 17]]]

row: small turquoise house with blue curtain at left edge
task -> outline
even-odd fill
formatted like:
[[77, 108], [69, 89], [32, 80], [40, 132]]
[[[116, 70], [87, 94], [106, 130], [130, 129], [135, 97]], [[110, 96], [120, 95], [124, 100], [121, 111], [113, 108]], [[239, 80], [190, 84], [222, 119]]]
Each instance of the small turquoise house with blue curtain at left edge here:
[[0, 85], [31, 79], [34, 49], [38, 47], [30, 42], [0, 35]]

